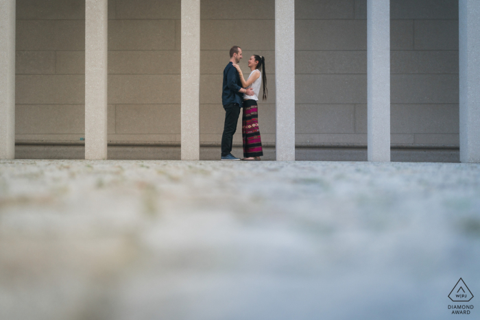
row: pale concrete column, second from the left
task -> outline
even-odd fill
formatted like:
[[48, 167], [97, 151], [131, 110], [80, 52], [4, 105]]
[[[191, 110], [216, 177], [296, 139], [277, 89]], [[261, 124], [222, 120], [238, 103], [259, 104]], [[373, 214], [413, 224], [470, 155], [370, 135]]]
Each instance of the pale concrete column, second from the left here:
[[85, 159], [106, 159], [107, 0], [86, 0], [85, 8]]

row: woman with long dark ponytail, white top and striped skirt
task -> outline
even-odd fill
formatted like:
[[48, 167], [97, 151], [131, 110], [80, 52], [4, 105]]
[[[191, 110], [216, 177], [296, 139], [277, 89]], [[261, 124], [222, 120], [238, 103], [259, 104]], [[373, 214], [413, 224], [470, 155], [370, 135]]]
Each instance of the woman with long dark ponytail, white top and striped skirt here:
[[[243, 95], [243, 116], [241, 123], [241, 136], [243, 138], [243, 159], [246, 161], [258, 161], [263, 156], [262, 141], [259, 130], [259, 110], [256, 101], [259, 100], [260, 86], [263, 82], [263, 100], [267, 99], [267, 75], [265, 75], [265, 58], [251, 56], [248, 60], [250, 75], [247, 81], [243, 79], [243, 73], [238, 64], [233, 64], [239, 71], [240, 81], [243, 88], [252, 88], [254, 95]], [[262, 71], [260, 71], [260, 68]]]

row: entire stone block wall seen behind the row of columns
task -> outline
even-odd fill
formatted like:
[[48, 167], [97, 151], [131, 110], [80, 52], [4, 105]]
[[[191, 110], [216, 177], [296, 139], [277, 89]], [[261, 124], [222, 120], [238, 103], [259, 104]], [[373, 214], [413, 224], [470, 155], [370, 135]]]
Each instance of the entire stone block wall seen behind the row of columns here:
[[[16, 140], [84, 136], [84, 0], [17, 0]], [[108, 1], [108, 140], [180, 143], [180, 0]], [[392, 0], [392, 144], [458, 145], [458, 0]], [[274, 0], [202, 0], [200, 133], [219, 143], [232, 45], [265, 56], [275, 140]], [[367, 141], [366, 0], [296, 0], [296, 142]], [[240, 130], [240, 127], [238, 127]], [[241, 134], [235, 137], [241, 141]]]

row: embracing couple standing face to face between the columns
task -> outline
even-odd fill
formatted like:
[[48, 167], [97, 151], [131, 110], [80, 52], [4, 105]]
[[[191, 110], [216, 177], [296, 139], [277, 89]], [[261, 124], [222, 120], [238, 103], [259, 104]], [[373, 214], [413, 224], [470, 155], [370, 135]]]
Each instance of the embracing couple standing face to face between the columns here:
[[224, 134], [221, 136], [221, 160], [240, 160], [232, 156], [232, 139], [237, 130], [240, 108], [243, 108], [241, 135], [243, 138], [243, 159], [258, 161], [263, 156], [262, 141], [259, 130], [259, 112], [257, 101], [263, 82], [263, 100], [267, 99], [267, 75], [265, 75], [265, 58], [251, 56], [248, 67], [252, 71], [245, 81], [238, 65], [242, 57], [241, 48], [230, 49], [230, 62], [224, 70], [221, 103], [225, 109]]

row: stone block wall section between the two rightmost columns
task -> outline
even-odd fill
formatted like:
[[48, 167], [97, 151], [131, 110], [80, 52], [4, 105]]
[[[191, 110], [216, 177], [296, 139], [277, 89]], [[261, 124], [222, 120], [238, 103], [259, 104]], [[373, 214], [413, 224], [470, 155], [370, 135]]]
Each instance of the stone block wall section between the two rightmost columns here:
[[392, 143], [457, 146], [458, 1], [391, 3]]

